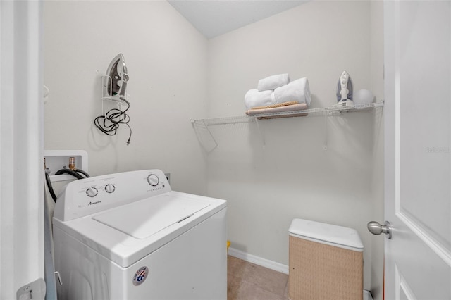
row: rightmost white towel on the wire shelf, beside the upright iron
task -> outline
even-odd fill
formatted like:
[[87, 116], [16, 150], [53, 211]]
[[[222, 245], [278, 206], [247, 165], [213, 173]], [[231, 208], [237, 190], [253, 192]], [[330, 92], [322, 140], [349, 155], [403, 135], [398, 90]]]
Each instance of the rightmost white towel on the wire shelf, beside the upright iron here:
[[288, 85], [274, 89], [276, 103], [298, 101], [310, 106], [311, 96], [309, 80], [306, 77], [290, 82]]

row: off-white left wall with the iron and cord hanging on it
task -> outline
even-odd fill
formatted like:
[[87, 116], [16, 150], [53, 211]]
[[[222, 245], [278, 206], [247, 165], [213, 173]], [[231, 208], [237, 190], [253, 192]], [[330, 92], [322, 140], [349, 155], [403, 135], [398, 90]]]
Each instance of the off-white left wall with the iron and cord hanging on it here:
[[[89, 173], [161, 168], [173, 189], [204, 194], [206, 162], [190, 118], [206, 114], [206, 43], [166, 1], [45, 1], [45, 149], [84, 149]], [[129, 131], [109, 137], [101, 76], [122, 52], [130, 81]]]

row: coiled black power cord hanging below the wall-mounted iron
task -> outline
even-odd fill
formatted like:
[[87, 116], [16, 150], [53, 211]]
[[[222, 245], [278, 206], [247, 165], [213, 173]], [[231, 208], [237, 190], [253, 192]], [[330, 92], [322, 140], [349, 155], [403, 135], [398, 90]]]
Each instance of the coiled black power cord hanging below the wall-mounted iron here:
[[[130, 116], [126, 113], [128, 108], [130, 108], [130, 102], [123, 98], [121, 98], [121, 100], [128, 105], [127, 108], [125, 108], [125, 111], [121, 111], [118, 108], [110, 109], [105, 115], [99, 115], [95, 118], [94, 125], [96, 125], [101, 132], [104, 132], [105, 135], [116, 135], [119, 125], [127, 125], [130, 130], [130, 136], [127, 141], [128, 146], [130, 144], [130, 140], [132, 139], [132, 128], [128, 125], [128, 122], [130, 122]], [[103, 119], [103, 121], [101, 119]]]

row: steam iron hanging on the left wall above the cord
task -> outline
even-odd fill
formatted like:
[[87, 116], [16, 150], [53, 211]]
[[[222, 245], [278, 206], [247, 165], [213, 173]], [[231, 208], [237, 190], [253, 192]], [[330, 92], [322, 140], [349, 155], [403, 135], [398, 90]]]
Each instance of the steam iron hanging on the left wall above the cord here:
[[125, 90], [129, 77], [124, 56], [121, 53], [111, 61], [108, 70], [106, 70], [106, 76], [111, 78], [111, 82], [106, 87], [109, 97], [113, 100], [125, 100]]

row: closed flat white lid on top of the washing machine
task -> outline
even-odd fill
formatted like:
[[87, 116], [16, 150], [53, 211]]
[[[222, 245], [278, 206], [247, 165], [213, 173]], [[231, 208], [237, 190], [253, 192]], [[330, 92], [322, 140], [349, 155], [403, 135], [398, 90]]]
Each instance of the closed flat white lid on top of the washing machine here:
[[207, 206], [202, 201], [165, 194], [113, 208], [92, 219], [131, 237], [145, 239]]

